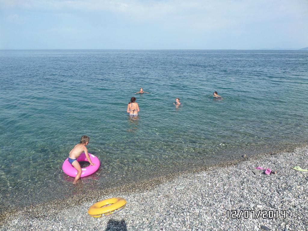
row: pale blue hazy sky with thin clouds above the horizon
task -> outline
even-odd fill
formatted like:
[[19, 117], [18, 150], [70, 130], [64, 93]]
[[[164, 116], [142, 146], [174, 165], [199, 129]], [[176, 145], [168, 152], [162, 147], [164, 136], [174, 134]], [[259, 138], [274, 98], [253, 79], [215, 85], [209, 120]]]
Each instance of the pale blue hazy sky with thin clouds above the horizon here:
[[0, 0], [0, 49], [308, 47], [308, 0]]

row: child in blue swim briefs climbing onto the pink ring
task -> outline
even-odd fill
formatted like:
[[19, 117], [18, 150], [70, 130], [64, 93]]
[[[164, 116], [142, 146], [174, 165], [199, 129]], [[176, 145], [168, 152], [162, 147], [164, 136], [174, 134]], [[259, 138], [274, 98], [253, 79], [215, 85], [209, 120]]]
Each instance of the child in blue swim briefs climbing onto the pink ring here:
[[89, 161], [90, 165], [95, 165], [92, 163], [89, 154], [88, 154], [88, 150], [86, 148], [86, 146], [89, 144], [90, 138], [88, 136], [82, 136], [80, 139], [80, 143], [76, 144], [75, 147], [71, 150], [69, 156], [68, 156], [68, 162], [70, 162], [71, 165], [73, 165], [74, 168], [76, 168], [77, 170], [77, 175], [75, 176], [75, 180], [73, 182], [73, 184], [76, 184], [77, 180], [79, 180], [80, 176], [81, 176], [81, 167], [80, 164], [77, 161], [77, 158], [80, 156], [80, 154], [82, 152], [84, 152], [86, 154], [87, 160]]

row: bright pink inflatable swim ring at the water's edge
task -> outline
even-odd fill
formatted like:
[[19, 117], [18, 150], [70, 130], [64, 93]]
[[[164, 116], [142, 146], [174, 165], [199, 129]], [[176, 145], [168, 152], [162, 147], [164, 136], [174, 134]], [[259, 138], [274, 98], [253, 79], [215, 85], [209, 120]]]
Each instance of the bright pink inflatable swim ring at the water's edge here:
[[[89, 176], [93, 174], [94, 172], [96, 172], [97, 169], [99, 168], [99, 165], [100, 165], [99, 159], [96, 156], [92, 155], [91, 153], [88, 153], [88, 154], [90, 156], [92, 163], [95, 164], [95, 166], [89, 165], [85, 168], [81, 168], [82, 172], [81, 172], [80, 177]], [[81, 162], [81, 161], [89, 162], [84, 152], [80, 154], [80, 156], [77, 158], [77, 161], [78, 162]], [[68, 158], [64, 160], [62, 169], [63, 169], [63, 172], [65, 172], [68, 176], [75, 177], [77, 175], [77, 170], [73, 167], [73, 165], [70, 164], [70, 162], [68, 162]]]

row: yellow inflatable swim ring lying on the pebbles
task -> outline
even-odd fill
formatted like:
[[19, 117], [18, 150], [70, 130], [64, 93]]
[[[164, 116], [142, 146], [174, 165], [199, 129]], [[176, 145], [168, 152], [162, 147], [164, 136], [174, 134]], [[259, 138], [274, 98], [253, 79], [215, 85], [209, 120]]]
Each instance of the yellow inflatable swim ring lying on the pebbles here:
[[103, 201], [99, 201], [88, 209], [91, 217], [108, 216], [116, 211], [123, 209], [126, 201], [122, 197], [113, 197]]

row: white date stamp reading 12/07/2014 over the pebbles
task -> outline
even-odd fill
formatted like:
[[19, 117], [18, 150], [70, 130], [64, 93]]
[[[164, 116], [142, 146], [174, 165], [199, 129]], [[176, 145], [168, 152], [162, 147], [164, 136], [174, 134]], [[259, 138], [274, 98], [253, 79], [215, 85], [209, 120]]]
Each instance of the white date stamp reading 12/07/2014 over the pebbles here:
[[227, 218], [286, 218], [286, 210], [227, 210]]

